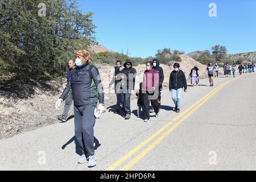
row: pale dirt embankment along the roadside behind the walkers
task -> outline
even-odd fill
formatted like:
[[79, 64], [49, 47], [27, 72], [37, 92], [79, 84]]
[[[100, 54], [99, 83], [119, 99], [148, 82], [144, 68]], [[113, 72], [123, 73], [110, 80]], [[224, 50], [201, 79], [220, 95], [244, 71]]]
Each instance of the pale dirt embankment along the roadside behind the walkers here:
[[[199, 74], [201, 78], [207, 77], [205, 72], [206, 65], [200, 64], [192, 58], [181, 55], [183, 60], [180, 65], [181, 69], [185, 72], [186, 77], [189, 77], [189, 73], [194, 65], [199, 67]], [[109, 83], [113, 74], [113, 66], [110, 65], [96, 65], [100, 71], [102, 83], [105, 90], [105, 105], [106, 107], [115, 104], [114, 89], [109, 89]], [[173, 70], [170, 65], [161, 65], [164, 71], [164, 88], [168, 88], [168, 80], [171, 71]], [[139, 82], [142, 82], [143, 72], [145, 65], [138, 65], [137, 69], [137, 84], [136, 90], [139, 87]], [[20, 84], [23, 88], [26, 83]], [[60, 85], [57, 82], [47, 81], [41, 84], [35, 83], [28, 85], [29, 93], [28, 97], [21, 98], [19, 96], [20, 90], [14, 90], [9, 86], [9, 90], [6, 89], [6, 85], [0, 85], [0, 138], [11, 137], [15, 134], [22, 133], [24, 131], [33, 130], [38, 127], [50, 125], [56, 123], [57, 115], [62, 114], [64, 103], [61, 106], [61, 110], [55, 109], [55, 102], [59, 98], [60, 94], [65, 88], [65, 84]], [[25, 91], [27, 92], [27, 91]], [[133, 95], [132, 98], [135, 98]], [[70, 114], [73, 114], [73, 108], [70, 110]]]

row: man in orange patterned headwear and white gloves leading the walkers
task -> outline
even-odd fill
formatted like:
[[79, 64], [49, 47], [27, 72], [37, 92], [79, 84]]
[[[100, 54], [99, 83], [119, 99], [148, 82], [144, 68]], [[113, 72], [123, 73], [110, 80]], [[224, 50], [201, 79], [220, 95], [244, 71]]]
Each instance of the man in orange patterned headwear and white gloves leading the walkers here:
[[105, 111], [104, 93], [98, 69], [89, 63], [90, 54], [86, 50], [76, 52], [76, 65], [69, 78], [68, 84], [57, 100], [56, 109], [67, 98], [72, 89], [75, 111], [75, 135], [82, 150], [79, 164], [88, 162], [88, 167], [96, 166], [96, 154], [94, 151], [94, 124], [97, 102], [100, 104], [100, 113]]

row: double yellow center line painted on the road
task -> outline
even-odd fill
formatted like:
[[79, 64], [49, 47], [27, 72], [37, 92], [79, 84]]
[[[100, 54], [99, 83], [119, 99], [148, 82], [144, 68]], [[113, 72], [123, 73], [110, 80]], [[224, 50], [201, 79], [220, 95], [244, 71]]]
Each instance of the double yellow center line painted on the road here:
[[[171, 126], [175, 121], [178, 121], [175, 123], [174, 126], [172, 126], [170, 129], [168, 129], [165, 133], [163, 133], [158, 139], [156, 139], [150, 146], [148, 146], [145, 150], [143, 150], [141, 153], [139, 153], [135, 158], [133, 158], [128, 164], [126, 164], [123, 168], [121, 168], [121, 171], [127, 171], [131, 167], [134, 166], [139, 160], [141, 160], [148, 152], [150, 152], [156, 145], [158, 145], [164, 138], [166, 138], [172, 131], [176, 129], [182, 122], [185, 121], [189, 116], [191, 116], [199, 107], [201, 107], [205, 102], [207, 102], [210, 98], [214, 96], [220, 89], [222, 89], [225, 85], [227, 85], [229, 82], [233, 80], [226, 81], [219, 85], [217, 88], [212, 90], [210, 93], [208, 93], [206, 96], [201, 98], [199, 101], [197, 101], [195, 104], [190, 106], [187, 110], [185, 110], [183, 113], [177, 115], [176, 118], [172, 119], [171, 122], [168, 122], [167, 125], [162, 127], [160, 130], [156, 131], [155, 134], [151, 135], [151, 137], [144, 140], [142, 143], [140, 143], [137, 147], [135, 147], [133, 150], [131, 150], [129, 153], [127, 153], [125, 156], [123, 156], [121, 159], [117, 160], [112, 166], [106, 169], [106, 171], [113, 171], [115, 168], [120, 166], [123, 162], [125, 162], [127, 159], [129, 159], [132, 155], [134, 155], [137, 151], [141, 150], [142, 147], [146, 146], [146, 144], [150, 143], [153, 139], [158, 137], [161, 133], [163, 133], [164, 130], [166, 130], [169, 126]], [[180, 119], [181, 118], [181, 119]], [[180, 120], [179, 120], [180, 119]]]

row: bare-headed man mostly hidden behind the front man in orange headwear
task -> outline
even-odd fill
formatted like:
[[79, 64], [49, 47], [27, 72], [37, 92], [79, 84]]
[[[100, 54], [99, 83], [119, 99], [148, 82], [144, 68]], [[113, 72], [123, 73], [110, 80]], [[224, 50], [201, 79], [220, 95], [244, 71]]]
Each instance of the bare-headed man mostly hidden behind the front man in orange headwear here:
[[[71, 72], [72, 70], [75, 68], [76, 64], [75, 64], [75, 61], [73, 60], [69, 60], [68, 61], [68, 72], [67, 72], [67, 83], [69, 81], [69, 78], [71, 76]], [[72, 102], [73, 102], [73, 97], [72, 97], [72, 90], [68, 93], [68, 96], [67, 98], [65, 98], [65, 107], [64, 107], [64, 111], [63, 111], [63, 114], [59, 116], [59, 120], [61, 122], [67, 122], [67, 118], [68, 118], [68, 111], [72, 105]]]

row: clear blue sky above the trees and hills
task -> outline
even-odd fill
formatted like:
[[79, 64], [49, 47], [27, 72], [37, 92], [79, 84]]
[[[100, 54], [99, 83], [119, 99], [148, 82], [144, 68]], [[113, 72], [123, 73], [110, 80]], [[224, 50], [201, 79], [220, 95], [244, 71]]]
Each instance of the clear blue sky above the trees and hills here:
[[[82, 12], [94, 13], [96, 39], [130, 56], [154, 56], [158, 49], [191, 51], [226, 46], [228, 53], [256, 51], [256, 1], [244, 0], [90, 0]], [[217, 17], [209, 16], [216, 3]]]

